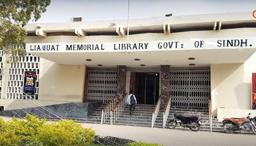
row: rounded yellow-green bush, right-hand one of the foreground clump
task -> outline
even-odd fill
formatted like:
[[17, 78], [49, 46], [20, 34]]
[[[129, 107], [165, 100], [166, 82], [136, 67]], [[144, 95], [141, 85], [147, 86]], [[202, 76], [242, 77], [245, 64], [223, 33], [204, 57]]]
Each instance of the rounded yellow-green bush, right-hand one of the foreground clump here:
[[95, 131], [86, 129], [73, 120], [61, 120], [38, 127], [35, 139], [49, 146], [87, 146], [94, 141]]

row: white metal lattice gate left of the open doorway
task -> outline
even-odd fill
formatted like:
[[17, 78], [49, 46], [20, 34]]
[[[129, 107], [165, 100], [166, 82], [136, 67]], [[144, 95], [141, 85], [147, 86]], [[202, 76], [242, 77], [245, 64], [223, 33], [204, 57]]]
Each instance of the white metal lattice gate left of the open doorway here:
[[87, 102], [108, 103], [117, 91], [116, 70], [90, 70]]

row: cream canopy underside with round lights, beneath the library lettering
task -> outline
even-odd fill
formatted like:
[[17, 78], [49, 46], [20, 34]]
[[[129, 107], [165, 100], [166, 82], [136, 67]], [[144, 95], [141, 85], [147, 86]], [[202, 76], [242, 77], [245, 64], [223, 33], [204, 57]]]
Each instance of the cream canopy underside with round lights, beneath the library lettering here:
[[[97, 67], [98, 64], [106, 68], [126, 65], [129, 68], [139, 68], [140, 65], [154, 68], [160, 65], [172, 67], [210, 66], [210, 64], [244, 63], [256, 49], [212, 49], [212, 50], [177, 50], [177, 51], [147, 51], [147, 52], [99, 52], [99, 53], [32, 53], [41, 58], [58, 64], [86, 65]], [[189, 60], [193, 57], [195, 60]], [[140, 61], [134, 61], [134, 59]], [[87, 62], [86, 59], [92, 61]]]

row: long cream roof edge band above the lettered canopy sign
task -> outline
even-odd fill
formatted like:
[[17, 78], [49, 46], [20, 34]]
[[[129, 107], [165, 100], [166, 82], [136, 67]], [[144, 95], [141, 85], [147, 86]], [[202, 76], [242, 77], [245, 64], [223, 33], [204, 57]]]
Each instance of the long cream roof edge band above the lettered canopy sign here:
[[[217, 24], [239, 24], [256, 23], [252, 12], [234, 12], [221, 14], [169, 16], [146, 19], [129, 20], [129, 34], [139, 34], [143, 32], [163, 32], [164, 24], [170, 25], [171, 32], [191, 30], [193, 28], [201, 30], [213, 30], [215, 21]], [[25, 29], [29, 35], [35, 35], [37, 23], [27, 24]], [[86, 34], [108, 34], [117, 35], [116, 27], [123, 27], [127, 31], [127, 20], [100, 20], [95, 22], [63, 22], [63, 23], [41, 23], [40, 28], [46, 32], [75, 32], [76, 28], [81, 28]], [[218, 28], [217, 28], [218, 30]]]

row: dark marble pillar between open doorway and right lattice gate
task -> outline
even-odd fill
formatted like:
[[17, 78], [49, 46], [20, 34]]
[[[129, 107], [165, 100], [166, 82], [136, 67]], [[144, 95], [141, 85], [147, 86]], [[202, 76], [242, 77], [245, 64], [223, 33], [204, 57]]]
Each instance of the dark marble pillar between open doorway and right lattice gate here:
[[170, 65], [161, 65], [161, 109], [165, 108], [169, 97]]

